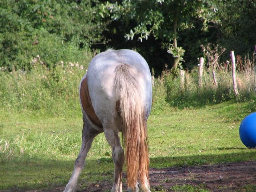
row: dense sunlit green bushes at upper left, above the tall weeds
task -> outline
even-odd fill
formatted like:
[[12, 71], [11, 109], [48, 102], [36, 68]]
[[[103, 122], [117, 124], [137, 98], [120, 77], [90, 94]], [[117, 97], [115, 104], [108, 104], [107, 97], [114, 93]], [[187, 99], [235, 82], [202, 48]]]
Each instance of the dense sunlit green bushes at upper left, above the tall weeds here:
[[[30, 69], [40, 55], [48, 67], [61, 60], [82, 63], [89, 47], [105, 42], [98, 1], [1, 1], [0, 67]], [[84, 63], [83, 63], [84, 64]]]

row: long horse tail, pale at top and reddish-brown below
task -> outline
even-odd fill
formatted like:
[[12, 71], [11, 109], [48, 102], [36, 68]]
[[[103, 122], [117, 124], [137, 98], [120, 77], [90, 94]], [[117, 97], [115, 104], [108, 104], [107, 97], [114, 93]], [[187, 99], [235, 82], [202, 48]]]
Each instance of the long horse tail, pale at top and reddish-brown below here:
[[142, 186], [145, 186], [143, 182], [148, 181], [149, 157], [145, 103], [142, 101], [142, 89], [132, 66], [128, 64], [117, 66], [115, 85], [118, 98], [116, 106], [121, 120], [127, 164], [127, 183], [128, 187], [135, 191], [138, 176]]

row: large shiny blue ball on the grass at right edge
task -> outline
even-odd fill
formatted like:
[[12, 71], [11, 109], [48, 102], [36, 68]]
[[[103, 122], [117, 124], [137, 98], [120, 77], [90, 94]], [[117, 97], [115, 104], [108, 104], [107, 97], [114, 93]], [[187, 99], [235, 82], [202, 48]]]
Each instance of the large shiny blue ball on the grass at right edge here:
[[243, 119], [239, 128], [239, 136], [245, 146], [256, 148], [256, 112]]

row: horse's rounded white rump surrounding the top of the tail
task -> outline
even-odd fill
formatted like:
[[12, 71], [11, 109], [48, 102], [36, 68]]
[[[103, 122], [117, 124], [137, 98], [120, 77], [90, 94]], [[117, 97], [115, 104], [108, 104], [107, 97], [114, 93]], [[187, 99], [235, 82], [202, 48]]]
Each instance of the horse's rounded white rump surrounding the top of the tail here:
[[88, 72], [88, 89], [96, 115], [111, 114], [116, 108], [115, 74], [117, 66], [132, 67], [134, 77], [143, 92], [143, 101], [150, 111], [152, 102], [151, 73], [146, 60], [132, 50], [109, 50], [92, 58]]

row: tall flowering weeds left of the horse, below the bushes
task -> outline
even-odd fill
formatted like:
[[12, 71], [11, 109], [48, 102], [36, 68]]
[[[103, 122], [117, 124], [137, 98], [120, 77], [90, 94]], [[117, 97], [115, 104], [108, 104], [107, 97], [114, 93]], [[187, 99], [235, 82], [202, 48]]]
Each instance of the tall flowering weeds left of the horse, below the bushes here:
[[0, 70], [0, 112], [62, 115], [79, 109], [78, 86], [85, 74], [83, 65], [63, 61], [47, 68], [40, 56], [29, 71]]

